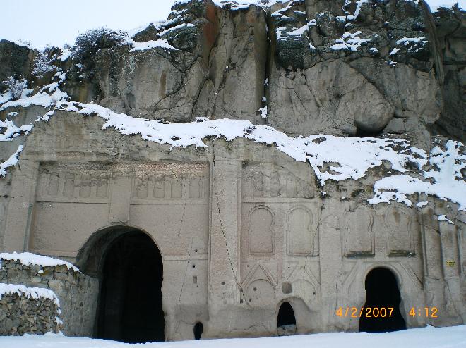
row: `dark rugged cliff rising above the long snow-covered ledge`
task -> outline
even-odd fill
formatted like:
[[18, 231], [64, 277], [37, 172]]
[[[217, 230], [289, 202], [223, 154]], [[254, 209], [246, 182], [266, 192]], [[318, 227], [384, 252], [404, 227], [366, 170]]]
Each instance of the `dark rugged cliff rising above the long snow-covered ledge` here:
[[[426, 147], [431, 135], [465, 139], [465, 35], [464, 11], [424, 1], [179, 1], [165, 22], [95, 30], [71, 54], [46, 54], [71, 100], [134, 117], [403, 134]], [[2, 41], [2, 80], [40, 88], [53, 74], [32, 75], [38, 54]]]

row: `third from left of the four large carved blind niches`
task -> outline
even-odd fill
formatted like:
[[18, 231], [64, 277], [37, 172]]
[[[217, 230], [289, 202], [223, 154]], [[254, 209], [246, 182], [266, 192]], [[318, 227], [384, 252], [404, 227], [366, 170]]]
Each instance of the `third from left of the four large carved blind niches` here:
[[345, 256], [374, 256], [374, 218], [365, 206], [359, 206], [346, 214]]

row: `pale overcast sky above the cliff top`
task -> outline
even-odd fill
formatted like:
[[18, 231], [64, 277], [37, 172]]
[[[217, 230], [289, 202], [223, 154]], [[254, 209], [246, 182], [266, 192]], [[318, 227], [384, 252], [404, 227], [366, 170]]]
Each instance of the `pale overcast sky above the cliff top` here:
[[[238, 1], [238, 0], [237, 0]], [[431, 7], [466, 0], [427, 0]], [[42, 49], [47, 44], [73, 44], [80, 32], [96, 27], [129, 30], [165, 20], [175, 0], [0, 0], [0, 39], [25, 40]], [[239, 0], [238, 2], [253, 2]]]

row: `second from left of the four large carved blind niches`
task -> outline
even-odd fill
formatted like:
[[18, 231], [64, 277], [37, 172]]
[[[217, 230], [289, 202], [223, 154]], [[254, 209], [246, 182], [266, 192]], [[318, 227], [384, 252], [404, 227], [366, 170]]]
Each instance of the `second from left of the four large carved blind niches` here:
[[304, 206], [297, 206], [287, 214], [287, 253], [296, 256], [318, 255], [318, 231], [314, 216]]

